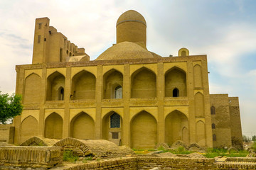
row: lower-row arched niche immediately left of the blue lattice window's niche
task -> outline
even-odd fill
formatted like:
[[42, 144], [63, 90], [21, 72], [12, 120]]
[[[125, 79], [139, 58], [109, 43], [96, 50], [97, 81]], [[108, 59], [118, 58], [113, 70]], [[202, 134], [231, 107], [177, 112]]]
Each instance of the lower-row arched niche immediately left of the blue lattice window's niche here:
[[70, 122], [70, 137], [95, 140], [95, 122], [87, 113], [78, 113]]

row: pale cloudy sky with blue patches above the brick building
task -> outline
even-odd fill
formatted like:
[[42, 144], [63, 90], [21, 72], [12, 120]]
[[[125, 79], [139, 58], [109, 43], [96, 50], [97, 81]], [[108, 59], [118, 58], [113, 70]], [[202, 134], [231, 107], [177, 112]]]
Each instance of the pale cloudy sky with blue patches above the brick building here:
[[130, 9], [147, 23], [147, 49], [163, 57], [181, 47], [207, 55], [210, 94], [239, 96], [243, 135], [256, 135], [255, 0], [1, 0], [0, 91], [15, 92], [19, 64], [31, 64], [35, 19], [54, 26], [95, 60], [116, 41]]

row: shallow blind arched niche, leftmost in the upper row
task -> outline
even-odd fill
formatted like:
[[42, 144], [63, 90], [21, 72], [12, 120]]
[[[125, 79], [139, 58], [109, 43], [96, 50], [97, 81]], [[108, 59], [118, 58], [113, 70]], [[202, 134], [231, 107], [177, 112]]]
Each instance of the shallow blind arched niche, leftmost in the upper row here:
[[30, 74], [25, 79], [24, 103], [40, 103], [41, 77], [38, 74]]

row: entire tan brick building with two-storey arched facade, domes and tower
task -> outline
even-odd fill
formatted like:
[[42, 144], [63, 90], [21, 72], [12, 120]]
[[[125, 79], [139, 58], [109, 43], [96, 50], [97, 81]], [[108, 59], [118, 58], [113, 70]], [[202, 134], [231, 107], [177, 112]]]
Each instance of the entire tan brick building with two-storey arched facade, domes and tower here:
[[150, 52], [146, 21], [137, 11], [119, 16], [117, 44], [93, 61], [48, 18], [37, 18], [33, 62], [16, 72], [24, 105], [14, 120], [16, 144], [40, 136], [132, 148], [176, 140], [242, 146], [238, 98], [209, 94], [206, 55], [189, 55], [186, 48], [177, 57]]

